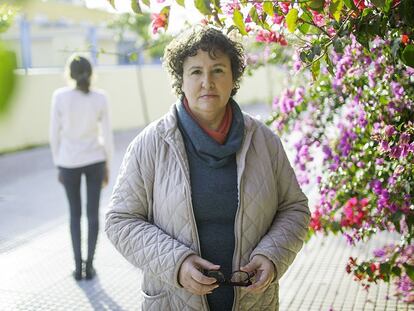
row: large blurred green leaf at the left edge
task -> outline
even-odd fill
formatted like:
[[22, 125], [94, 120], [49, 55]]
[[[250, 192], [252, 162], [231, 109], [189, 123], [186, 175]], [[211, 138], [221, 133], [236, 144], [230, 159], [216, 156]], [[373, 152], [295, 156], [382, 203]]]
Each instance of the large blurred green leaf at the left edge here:
[[10, 98], [16, 86], [16, 55], [14, 52], [4, 49], [0, 45], [0, 115], [10, 107]]

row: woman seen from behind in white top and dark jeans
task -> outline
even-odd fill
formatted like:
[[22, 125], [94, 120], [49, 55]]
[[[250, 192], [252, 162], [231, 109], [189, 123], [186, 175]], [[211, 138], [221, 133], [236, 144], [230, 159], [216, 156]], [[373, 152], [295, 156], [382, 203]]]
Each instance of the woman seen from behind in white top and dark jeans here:
[[[63, 184], [70, 207], [70, 233], [75, 257], [76, 280], [92, 279], [93, 258], [99, 230], [101, 188], [108, 183], [113, 153], [108, 101], [102, 91], [90, 88], [92, 65], [87, 58], [73, 55], [67, 70], [74, 87], [57, 89], [52, 96], [50, 146], [58, 180]], [[81, 177], [86, 177], [88, 254], [82, 269]]]

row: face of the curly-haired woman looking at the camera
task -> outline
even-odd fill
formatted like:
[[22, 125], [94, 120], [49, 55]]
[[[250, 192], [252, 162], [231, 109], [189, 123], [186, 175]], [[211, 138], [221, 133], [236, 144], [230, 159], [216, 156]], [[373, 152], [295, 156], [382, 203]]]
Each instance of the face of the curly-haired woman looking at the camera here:
[[233, 86], [231, 62], [226, 54], [217, 51], [212, 59], [208, 52], [199, 50], [184, 61], [182, 90], [197, 117], [215, 121], [224, 116]]

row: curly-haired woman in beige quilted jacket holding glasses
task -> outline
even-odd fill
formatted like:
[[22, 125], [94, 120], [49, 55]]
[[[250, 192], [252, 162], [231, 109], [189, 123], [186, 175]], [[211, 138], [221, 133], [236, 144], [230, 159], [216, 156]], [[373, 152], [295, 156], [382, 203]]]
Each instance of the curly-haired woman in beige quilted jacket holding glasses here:
[[106, 216], [143, 310], [277, 310], [309, 210], [279, 137], [233, 99], [244, 51], [195, 27], [166, 48], [178, 101], [130, 144]]

